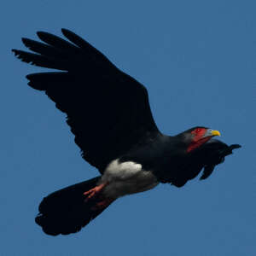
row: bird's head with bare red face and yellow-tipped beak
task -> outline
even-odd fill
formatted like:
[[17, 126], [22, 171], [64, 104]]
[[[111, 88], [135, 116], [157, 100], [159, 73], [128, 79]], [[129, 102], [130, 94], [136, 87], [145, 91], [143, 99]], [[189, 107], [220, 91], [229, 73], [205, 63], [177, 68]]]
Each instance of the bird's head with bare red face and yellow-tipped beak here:
[[212, 137], [220, 136], [220, 132], [207, 127], [197, 126], [182, 133], [185, 143], [188, 145], [187, 152], [199, 148], [207, 143]]

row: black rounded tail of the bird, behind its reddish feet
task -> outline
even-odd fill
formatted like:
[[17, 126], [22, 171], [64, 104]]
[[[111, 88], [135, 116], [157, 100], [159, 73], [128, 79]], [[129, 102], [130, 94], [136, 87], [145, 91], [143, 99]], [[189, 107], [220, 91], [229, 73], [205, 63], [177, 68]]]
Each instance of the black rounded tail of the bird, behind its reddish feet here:
[[[100, 177], [77, 183], [44, 197], [35, 221], [51, 236], [68, 235], [81, 230], [103, 212], [112, 201], [99, 195], [91, 198], [84, 192], [94, 189]], [[107, 202], [107, 203], [106, 203]]]

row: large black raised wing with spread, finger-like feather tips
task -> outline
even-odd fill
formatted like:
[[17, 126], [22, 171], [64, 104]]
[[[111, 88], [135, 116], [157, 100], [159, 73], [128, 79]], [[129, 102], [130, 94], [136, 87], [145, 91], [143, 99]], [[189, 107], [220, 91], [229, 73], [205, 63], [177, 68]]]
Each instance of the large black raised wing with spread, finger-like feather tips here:
[[103, 172], [109, 161], [159, 133], [148, 92], [83, 38], [67, 29], [62, 33], [71, 43], [38, 32], [44, 43], [22, 38], [35, 53], [13, 51], [21, 61], [61, 71], [32, 73], [26, 78], [32, 88], [44, 90], [56, 108], [67, 113], [67, 124], [84, 160]]

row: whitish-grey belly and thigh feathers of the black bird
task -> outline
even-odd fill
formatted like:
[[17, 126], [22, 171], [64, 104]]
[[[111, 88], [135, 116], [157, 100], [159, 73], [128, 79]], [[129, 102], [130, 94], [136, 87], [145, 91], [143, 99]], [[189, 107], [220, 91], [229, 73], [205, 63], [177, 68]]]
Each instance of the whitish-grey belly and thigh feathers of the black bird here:
[[108, 183], [104, 189], [105, 195], [118, 198], [153, 189], [159, 182], [152, 172], [144, 171], [140, 164], [113, 160], [106, 168], [100, 183]]

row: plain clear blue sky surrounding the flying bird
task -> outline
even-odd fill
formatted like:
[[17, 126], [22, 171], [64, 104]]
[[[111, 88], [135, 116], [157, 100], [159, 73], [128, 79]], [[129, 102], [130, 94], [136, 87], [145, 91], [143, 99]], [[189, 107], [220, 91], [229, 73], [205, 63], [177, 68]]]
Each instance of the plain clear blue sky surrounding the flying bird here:
[[[246, 0], [3, 1], [0, 254], [256, 255], [255, 9]], [[43, 197], [98, 172], [80, 157], [65, 114], [26, 85], [43, 69], [10, 49], [61, 27], [145, 84], [164, 133], [205, 125], [243, 148], [206, 181], [160, 184], [116, 201], [78, 234], [44, 235], [34, 223]]]

